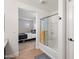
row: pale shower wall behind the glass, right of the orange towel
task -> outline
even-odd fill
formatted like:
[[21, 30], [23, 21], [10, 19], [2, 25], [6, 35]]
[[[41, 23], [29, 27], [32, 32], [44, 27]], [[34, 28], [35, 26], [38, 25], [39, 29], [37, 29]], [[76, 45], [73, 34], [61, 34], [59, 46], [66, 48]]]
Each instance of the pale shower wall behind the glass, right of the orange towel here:
[[49, 25], [48, 25], [48, 46], [52, 49], [57, 49], [58, 46], [58, 22], [57, 22], [57, 15], [52, 16], [49, 18]]

